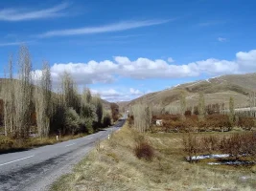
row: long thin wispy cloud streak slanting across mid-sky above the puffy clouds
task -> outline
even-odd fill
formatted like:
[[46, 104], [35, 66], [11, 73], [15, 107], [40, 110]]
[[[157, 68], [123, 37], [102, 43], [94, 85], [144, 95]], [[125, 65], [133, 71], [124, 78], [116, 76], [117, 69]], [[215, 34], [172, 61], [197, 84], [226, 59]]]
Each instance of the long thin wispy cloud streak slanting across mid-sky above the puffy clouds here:
[[51, 31], [39, 34], [39, 37], [52, 37], [52, 36], [67, 36], [67, 35], [80, 35], [90, 33], [104, 33], [104, 32], [120, 32], [136, 28], [149, 27], [154, 25], [161, 25], [168, 23], [174, 19], [168, 20], [144, 20], [144, 21], [123, 21], [99, 27], [84, 27], [79, 29], [66, 29], [59, 31]]

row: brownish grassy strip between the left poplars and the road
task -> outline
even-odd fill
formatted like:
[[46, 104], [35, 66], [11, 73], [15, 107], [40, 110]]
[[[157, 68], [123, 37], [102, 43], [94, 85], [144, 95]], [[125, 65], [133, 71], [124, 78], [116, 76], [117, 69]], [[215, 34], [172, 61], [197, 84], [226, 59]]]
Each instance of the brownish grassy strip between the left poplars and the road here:
[[62, 141], [66, 141], [66, 140], [74, 139], [74, 138], [81, 138], [84, 136], [86, 136], [86, 134], [79, 134], [76, 136], [64, 136], [62, 138], [59, 138], [58, 140], [56, 139], [56, 137], [28, 138], [28, 139], [24, 139], [24, 140], [22, 140], [22, 139], [16, 140], [16, 139], [7, 138], [5, 136], [0, 135], [0, 154], [28, 150], [28, 149], [35, 148], [38, 146], [55, 144], [57, 142], [62, 142]]

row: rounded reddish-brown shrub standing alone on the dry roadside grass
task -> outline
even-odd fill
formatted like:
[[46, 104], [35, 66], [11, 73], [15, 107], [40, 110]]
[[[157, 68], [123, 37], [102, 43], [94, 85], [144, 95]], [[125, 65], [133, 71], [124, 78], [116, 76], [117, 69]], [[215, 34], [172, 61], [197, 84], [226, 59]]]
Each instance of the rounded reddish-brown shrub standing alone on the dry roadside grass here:
[[154, 157], [154, 151], [147, 141], [139, 141], [134, 149], [135, 155], [138, 159], [150, 160]]

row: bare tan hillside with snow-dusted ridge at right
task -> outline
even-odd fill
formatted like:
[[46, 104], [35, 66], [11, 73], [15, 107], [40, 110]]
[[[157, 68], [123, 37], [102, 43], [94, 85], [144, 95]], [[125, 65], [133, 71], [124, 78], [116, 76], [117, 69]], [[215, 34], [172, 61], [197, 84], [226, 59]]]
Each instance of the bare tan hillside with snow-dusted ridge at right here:
[[236, 107], [248, 106], [248, 93], [256, 91], [256, 74], [231, 74], [177, 85], [160, 92], [151, 93], [129, 102], [121, 103], [123, 107], [142, 102], [164, 107], [179, 104], [181, 92], [185, 92], [187, 105], [198, 104], [198, 93], [205, 96], [206, 104], [225, 103], [228, 105], [230, 96], [234, 97]]

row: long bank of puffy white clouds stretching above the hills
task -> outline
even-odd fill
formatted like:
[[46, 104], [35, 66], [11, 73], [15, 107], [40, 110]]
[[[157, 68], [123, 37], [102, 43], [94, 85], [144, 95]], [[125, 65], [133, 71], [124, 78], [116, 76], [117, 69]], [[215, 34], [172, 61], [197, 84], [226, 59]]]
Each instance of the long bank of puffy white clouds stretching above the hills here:
[[[148, 78], [181, 78], [206, 74], [216, 76], [221, 74], [241, 74], [256, 71], [256, 50], [236, 53], [234, 60], [219, 60], [209, 58], [184, 65], [170, 64], [163, 59], [151, 60], [139, 57], [130, 60], [126, 56], [114, 56], [113, 60], [87, 63], [55, 63], [51, 67], [53, 80], [58, 81], [58, 74], [72, 74], [79, 85], [95, 83], [112, 83], [118, 77], [133, 79]], [[36, 72], [38, 73], [38, 72]], [[130, 89], [129, 93], [139, 92]]]

